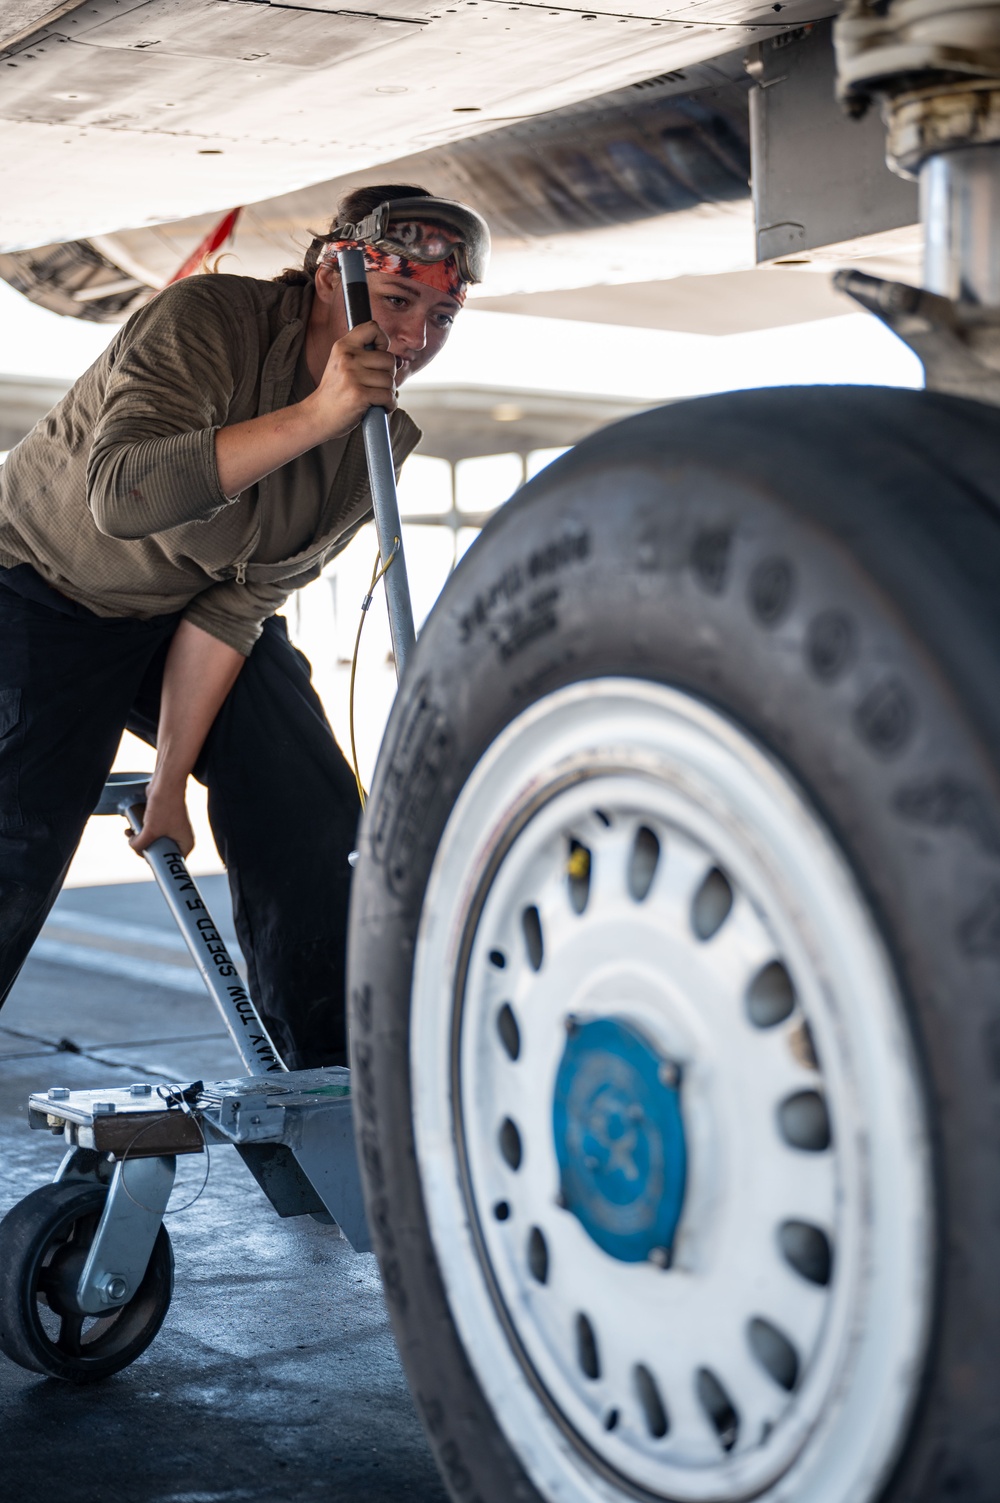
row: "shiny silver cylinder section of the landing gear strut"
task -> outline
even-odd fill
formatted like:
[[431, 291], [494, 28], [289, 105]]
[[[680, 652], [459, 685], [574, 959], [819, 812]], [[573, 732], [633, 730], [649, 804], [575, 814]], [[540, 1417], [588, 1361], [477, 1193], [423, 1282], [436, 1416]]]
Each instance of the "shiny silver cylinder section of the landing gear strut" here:
[[1000, 308], [1000, 144], [928, 156], [920, 218], [928, 292]]

